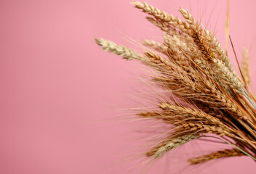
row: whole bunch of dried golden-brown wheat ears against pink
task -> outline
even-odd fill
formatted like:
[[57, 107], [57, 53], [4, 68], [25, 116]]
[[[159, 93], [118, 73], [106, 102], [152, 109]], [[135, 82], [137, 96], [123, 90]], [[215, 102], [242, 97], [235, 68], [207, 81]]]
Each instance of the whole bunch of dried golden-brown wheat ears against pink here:
[[256, 98], [248, 88], [247, 49], [239, 78], [227, 51], [188, 11], [179, 9], [185, 18], [180, 20], [145, 2], [132, 4], [151, 15], [147, 20], [161, 29], [163, 43], [145, 40], [144, 49], [137, 53], [103, 38], [95, 41], [104, 51], [151, 67], [156, 72], [153, 83], [168, 91], [169, 97], [159, 99], [157, 109], [137, 113], [173, 126], [146, 155], [159, 158], [188, 141], [213, 135], [230, 149], [188, 159], [191, 165], [243, 155], [256, 160]]

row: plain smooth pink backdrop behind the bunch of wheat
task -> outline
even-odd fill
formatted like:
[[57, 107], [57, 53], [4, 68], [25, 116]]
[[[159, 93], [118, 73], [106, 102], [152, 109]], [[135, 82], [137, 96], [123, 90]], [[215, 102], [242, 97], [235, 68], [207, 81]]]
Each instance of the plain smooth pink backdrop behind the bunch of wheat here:
[[[129, 158], [138, 125], [116, 119], [116, 110], [131, 104], [125, 95], [133, 92], [140, 65], [101, 51], [93, 40], [131, 45], [126, 36], [159, 38], [129, 2], [1, 0], [0, 173], [140, 173]], [[204, 25], [213, 10], [207, 27], [214, 30], [217, 21], [225, 46], [225, 1], [148, 3], [175, 15], [191, 4]], [[240, 58], [243, 46], [255, 57], [255, 7], [256, 1], [231, 1], [230, 33]], [[249, 61], [255, 74], [255, 59]], [[163, 168], [156, 164], [148, 173], [167, 173]], [[255, 172], [252, 159], [239, 157], [191, 173]]]

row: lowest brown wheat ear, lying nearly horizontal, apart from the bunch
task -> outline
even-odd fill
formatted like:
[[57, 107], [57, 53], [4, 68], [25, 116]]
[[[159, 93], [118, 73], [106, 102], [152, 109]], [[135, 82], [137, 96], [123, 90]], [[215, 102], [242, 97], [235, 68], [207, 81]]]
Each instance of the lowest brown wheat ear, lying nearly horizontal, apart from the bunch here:
[[220, 159], [225, 157], [239, 157], [244, 156], [245, 154], [238, 149], [225, 149], [223, 151], [213, 152], [211, 154], [205, 154], [201, 157], [195, 157], [188, 159], [188, 162], [191, 163], [191, 165], [198, 165], [202, 162], [209, 162], [213, 159]]

